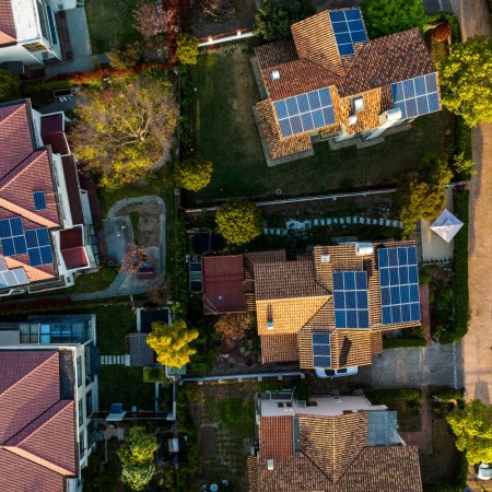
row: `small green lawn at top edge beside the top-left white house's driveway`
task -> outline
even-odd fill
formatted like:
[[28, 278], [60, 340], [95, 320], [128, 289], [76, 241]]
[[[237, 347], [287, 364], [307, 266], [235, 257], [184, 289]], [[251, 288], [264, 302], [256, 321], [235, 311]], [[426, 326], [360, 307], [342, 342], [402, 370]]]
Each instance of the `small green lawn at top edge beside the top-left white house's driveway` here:
[[137, 0], [86, 0], [89, 34], [92, 52], [106, 52], [118, 42], [136, 40], [138, 33], [132, 27], [132, 12]]

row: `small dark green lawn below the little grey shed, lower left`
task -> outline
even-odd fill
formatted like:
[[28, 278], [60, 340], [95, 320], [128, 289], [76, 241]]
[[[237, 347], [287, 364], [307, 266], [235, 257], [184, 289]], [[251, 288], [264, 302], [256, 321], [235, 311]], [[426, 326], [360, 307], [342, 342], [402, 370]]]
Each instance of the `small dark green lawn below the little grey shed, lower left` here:
[[141, 410], [154, 410], [154, 384], [143, 383], [142, 367], [101, 366], [101, 410], [109, 410], [112, 403], [124, 403], [125, 410], [131, 410], [133, 405]]

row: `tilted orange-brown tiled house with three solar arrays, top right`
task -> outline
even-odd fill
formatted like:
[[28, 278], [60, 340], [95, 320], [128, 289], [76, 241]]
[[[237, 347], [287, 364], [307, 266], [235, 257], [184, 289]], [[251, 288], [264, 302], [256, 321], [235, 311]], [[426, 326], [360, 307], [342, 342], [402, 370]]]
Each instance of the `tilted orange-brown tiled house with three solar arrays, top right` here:
[[291, 31], [293, 40], [256, 48], [266, 95], [256, 119], [269, 165], [312, 155], [313, 138], [371, 140], [441, 109], [437, 70], [419, 30], [368, 39], [352, 8]]

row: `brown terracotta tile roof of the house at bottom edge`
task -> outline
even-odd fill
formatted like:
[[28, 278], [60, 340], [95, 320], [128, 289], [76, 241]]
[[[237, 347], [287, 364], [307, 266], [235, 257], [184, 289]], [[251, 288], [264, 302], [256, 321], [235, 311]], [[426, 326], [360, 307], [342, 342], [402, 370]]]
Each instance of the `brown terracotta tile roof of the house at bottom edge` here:
[[[250, 492], [422, 491], [417, 447], [367, 446], [366, 412], [327, 417], [297, 410], [296, 417], [301, 449], [292, 456], [286, 446], [292, 443], [293, 417], [274, 418], [269, 424], [273, 418], [261, 417], [259, 450], [248, 459]], [[268, 470], [274, 453], [273, 470]]]

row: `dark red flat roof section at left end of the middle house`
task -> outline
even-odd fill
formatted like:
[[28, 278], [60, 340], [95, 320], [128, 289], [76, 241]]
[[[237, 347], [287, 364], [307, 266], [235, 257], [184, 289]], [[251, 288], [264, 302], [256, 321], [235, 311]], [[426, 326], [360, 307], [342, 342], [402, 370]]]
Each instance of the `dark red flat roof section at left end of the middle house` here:
[[243, 255], [201, 258], [206, 314], [247, 311]]

